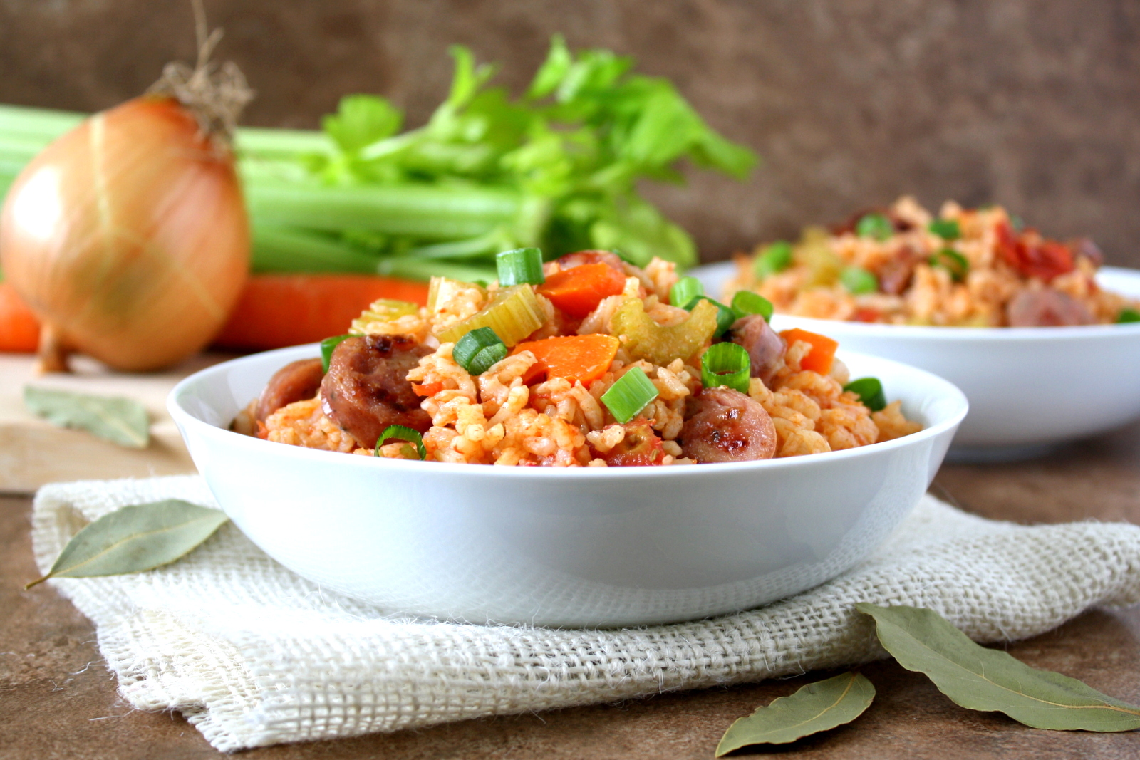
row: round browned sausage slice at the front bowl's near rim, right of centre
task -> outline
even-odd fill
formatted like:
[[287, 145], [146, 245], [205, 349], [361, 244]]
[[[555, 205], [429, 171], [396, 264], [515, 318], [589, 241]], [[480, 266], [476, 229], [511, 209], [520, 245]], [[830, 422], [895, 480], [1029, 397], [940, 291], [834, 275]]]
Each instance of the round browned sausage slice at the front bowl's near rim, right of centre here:
[[697, 461], [771, 459], [776, 427], [758, 401], [740, 391], [710, 387], [694, 399], [695, 410], [681, 428], [681, 450]]

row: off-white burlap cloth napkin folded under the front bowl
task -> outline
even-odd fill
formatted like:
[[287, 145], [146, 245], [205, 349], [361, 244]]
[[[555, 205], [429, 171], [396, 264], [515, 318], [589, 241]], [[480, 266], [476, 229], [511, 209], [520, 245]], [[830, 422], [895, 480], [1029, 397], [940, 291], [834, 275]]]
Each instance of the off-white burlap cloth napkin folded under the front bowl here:
[[[40, 569], [88, 521], [164, 498], [214, 505], [198, 477], [43, 488]], [[854, 610], [862, 600], [931, 607], [978, 641], [1024, 638], [1092, 605], [1140, 600], [1140, 526], [1020, 526], [928, 496], [871, 559], [829, 583], [758, 610], [626, 630], [396, 618], [302, 580], [229, 523], [168, 567], [52, 583], [95, 622], [132, 705], [180, 710], [234, 751], [865, 662], [885, 653]]]

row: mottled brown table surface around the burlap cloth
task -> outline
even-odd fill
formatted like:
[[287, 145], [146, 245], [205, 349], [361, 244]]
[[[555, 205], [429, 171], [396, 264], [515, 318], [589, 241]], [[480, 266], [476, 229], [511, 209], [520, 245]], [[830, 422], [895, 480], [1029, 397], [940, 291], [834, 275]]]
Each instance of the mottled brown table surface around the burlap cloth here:
[[[937, 485], [986, 517], [1140, 522], [1140, 425], [1031, 463], [946, 465]], [[174, 760], [217, 757], [178, 713], [132, 711], [116, 695], [91, 623], [35, 577], [26, 497], [0, 498], [0, 758]], [[1140, 611], [1091, 611], [1009, 652], [1140, 702]], [[878, 697], [855, 724], [777, 752], [812, 758], [1135, 758], [1140, 733], [1026, 728], [971, 712], [893, 662], [864, 669]], [[809, 680], [674, 693], [621, 704], [469, 720], [418, 732], [252, 750], [250, 760], [336, 758], [712, 757], [736, 718]]]

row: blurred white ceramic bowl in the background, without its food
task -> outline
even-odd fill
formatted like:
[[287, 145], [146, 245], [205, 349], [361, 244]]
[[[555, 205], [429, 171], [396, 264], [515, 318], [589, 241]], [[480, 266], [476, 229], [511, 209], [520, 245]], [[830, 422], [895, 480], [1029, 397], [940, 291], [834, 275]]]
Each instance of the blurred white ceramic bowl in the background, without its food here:
[[[734, 267], [691, 273], [719, 296]], [[1098, 281], [1140, 299], [1140, 271], [1105, 267]], [[955, 459], [1034, 456], [1140, 417], [1140, 324], [910, 327], [776, 314], [772, 325], [829, 335], [840, 348], [921, 367], [962, 389], [970, 414], [954, 438]]]

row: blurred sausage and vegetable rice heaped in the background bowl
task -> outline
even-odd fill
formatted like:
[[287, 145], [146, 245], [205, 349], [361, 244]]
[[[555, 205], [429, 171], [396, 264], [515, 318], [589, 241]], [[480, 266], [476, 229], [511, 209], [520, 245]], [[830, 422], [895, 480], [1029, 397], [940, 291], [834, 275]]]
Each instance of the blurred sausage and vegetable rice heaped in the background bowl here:
[[1054, 327], [1140, 320], [1140, 304], [1098, 287], [1088, 239], [1061, 243], [1001, 206], [953, 202], [933, 216], [913, 198], [856, 214], [796, 244], [736, 258], [746, 289], [799, 317], [891, 325]]

